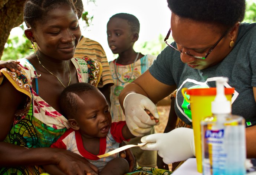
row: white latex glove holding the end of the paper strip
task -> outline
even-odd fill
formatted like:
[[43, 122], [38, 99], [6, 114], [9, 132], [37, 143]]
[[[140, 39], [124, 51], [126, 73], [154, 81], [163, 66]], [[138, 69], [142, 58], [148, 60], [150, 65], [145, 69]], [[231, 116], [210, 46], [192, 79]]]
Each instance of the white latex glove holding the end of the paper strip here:
[[142, 150], [158, 150], [165, 164], [183, 161], [195, 156], [194, 132], [190, 128], [176, 128], [169, 133], [157, 133], [141, 138], [148, 143]]

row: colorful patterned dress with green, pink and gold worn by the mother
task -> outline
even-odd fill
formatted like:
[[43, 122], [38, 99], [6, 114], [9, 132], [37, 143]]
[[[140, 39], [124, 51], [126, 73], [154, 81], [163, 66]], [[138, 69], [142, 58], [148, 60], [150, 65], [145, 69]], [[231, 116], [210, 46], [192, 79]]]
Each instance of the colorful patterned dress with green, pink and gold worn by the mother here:
[[[26, 103], [16, 111], [13, 125], [4, 142], [27, 148], [50, 147], [69, 128], [67, 119], [45, 102], [32, 88], [32, 82], [37, 85], [38, 75], [32, 64], [26, 59], [20, 59], [22, 72], [16, 74], [7, 69], [1, 72], [12, 85], [27, 96]], [[87, 57], [72, 58], [76, 67], [79, 82], [89, 82], [97, 86], [101, 77], [102, 66], [99, 62]], [[0, 85], [3, 82], [0, 78]], [[38, 89], [38, 88], [36, 88]], [[38, 91], [38, 90], [36, 90]], [[38, 175], [44, 170], [40, 166], [0, 168], [2, 174]]]

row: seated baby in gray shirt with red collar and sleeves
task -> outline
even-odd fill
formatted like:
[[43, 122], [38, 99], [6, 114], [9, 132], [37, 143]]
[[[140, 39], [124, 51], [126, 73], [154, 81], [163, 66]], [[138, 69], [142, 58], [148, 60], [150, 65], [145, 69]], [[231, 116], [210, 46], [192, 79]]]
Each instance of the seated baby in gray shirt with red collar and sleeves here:
[[[95, 86], [89, 83], [68, 86], [60, 95], [60, 108], [71, 128], [51, 145], [52, 148], [63, 148], [85, 157], [99, 168], [101, 175], [129, 172], [127, 160], [118, 154], [97, 157], [118, 148], [119, 143], [135, 136], [125, 121], [111, 123], [106, 98]], [[59, 174], [53, 169], [47, 171]]]

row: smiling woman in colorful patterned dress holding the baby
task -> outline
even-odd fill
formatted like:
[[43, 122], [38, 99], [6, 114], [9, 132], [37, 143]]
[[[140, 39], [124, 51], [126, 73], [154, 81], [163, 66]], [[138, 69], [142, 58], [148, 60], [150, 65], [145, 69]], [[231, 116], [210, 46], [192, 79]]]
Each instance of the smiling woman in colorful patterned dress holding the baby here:
[[78, 82], [97, 86], [102, 72], [99, 62], [73, 58], [81, 38], [73, 1], [26, 0], [24, 21], [38, 50], [18, 60], [19, 72], [1, 69], [0, 174], [39, 175], [42, 165], [57, 165], [66, 174], [96, 175], [98, 168], [80, 155], [50, 148], [69, 128], [60, 93]]

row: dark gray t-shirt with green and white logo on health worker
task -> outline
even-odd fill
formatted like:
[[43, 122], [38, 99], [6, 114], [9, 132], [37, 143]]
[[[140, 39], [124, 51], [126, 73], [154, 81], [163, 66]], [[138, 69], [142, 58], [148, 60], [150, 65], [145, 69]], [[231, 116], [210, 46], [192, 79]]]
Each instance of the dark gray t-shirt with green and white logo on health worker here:
[[[175, 42], [172, 45], [176, 47]], [[181, 62], [180, 52], [167, 46], [149, 71], [160, 82], [177, 85], [175, 111], [187, 124], [191, 124], [190, 105], [186, 104], [181, 89], [216, 87], [215, 81], [206, 82], [206, 79], [217, 76], [228, 77], [228, 85], [235, 88], [232, 114], [243, 116], [247, 126], [256, 124], [256, 102], [252, 89], [256, 87], [256, 23], [240, 24], [234, 48], [217, 65], [203, 70], [190, 68]]]

